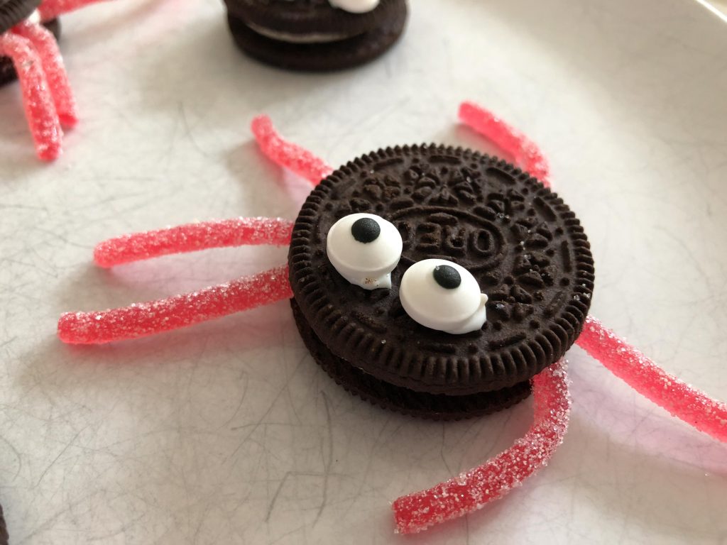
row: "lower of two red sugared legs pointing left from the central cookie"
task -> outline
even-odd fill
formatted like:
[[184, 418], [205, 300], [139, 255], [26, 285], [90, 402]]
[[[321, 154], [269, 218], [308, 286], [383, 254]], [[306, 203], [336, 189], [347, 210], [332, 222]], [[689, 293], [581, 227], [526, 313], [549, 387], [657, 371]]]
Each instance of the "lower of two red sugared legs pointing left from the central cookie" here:
[[68, 344], [104, 344], [137, 339], [292, 296], [288, 267], [277, 267], [169, 299], [104, 312], [67, 312], [58, 320], [58, 336]]

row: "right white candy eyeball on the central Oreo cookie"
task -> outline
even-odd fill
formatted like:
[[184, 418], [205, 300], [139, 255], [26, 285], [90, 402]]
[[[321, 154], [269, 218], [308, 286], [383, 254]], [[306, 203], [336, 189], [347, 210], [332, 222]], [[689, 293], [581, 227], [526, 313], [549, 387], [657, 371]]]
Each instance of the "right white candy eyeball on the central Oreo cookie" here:
[[412, 320], [454, 335], [477, 331], [487, 319], [487, 296], [475, 277], [446, 259], [411, 265], [401, 278], [399, 299]]

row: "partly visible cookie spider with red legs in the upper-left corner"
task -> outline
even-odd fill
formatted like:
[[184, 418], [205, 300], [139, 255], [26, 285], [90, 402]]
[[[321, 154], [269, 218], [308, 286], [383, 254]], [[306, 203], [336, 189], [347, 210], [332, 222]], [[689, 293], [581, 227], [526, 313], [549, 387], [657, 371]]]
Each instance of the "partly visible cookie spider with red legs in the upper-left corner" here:
[[96, 1], [99, 0], [0, 1], [0, 57], [6, 57], [5, 61], [9, 59], [15, 66], [25, 117], [36, 153], [43, 161], [60, 156], [62, 127], [70, 129], [78, 122], [76, 100], [63, 58], [55, 36], [44, 23], [49, 25], [59, 15]]

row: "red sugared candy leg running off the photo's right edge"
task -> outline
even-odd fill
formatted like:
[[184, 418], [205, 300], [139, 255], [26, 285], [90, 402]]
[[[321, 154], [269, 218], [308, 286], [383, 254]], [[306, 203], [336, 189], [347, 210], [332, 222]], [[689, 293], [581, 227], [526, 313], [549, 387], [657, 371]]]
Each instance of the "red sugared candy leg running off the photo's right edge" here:
[[668, 374], [600, 320], [588, 316], [577, 344], [608, 371], [673, 416], [727, 443], [727, 404]]

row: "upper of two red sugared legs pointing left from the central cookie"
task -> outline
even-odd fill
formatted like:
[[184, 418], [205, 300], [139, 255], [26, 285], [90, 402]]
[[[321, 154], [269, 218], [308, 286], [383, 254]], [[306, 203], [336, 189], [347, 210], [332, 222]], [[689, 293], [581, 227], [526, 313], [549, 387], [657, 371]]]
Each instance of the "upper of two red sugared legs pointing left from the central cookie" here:
[[236, 218], [199, 222], [111, 238], [98, 244], [94, 260], [100, 267], [228, 246], [290, 243], [293, 222], [281, 218]]

